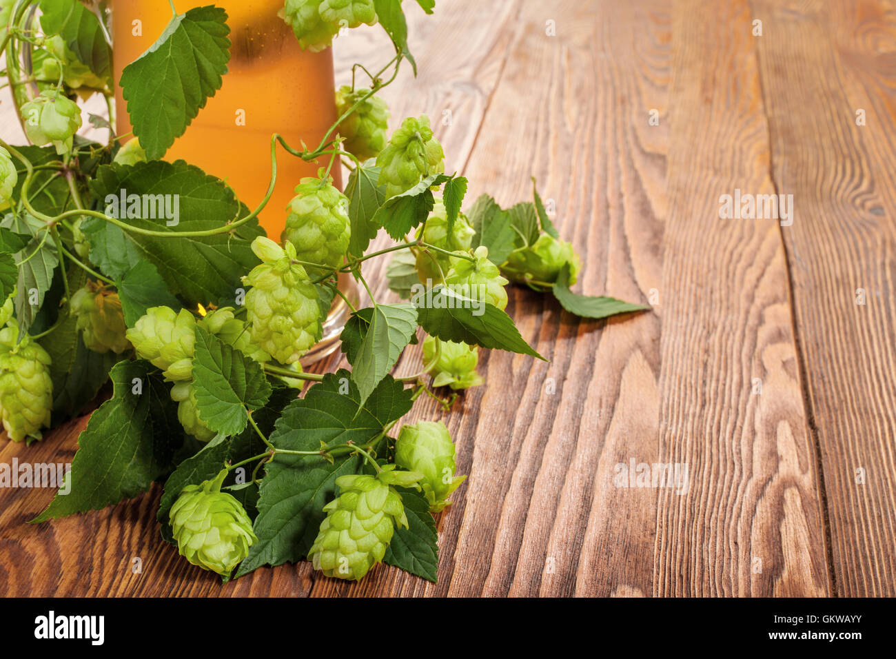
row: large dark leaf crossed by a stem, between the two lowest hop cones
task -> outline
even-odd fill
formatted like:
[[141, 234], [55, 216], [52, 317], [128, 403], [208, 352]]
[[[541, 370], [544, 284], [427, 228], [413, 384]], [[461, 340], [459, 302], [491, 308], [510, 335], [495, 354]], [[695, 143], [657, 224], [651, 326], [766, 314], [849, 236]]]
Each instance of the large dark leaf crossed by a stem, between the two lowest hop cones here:
[[[409, 412], [411, 392], [386, 376], [360, 403], [349, 371], [323, 377], [284, 410], [271, 443], [286, 450], [316, 451], [351, 441], [364, 445], [385, 426]], [[317, 455], [274, 455], [265, 468], [254, 531], [258, 536], [237, 577], [270, 564], [305, 559], [323, 521], [323, 506], [333, 499], [336, 479], [358, 473], [363, 459], [337, 457], [333, 464]]]

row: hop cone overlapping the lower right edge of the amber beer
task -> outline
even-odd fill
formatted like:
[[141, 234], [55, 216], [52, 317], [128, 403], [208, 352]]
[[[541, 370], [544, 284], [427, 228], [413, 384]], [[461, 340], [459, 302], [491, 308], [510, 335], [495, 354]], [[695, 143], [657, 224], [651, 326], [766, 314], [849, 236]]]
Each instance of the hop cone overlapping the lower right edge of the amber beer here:
[[332, 186], [332, 178], [303, 178], [288, 206], [280, 236], [296, 248], [299, 261], [335, 268], [349, 248], [349, 199]]

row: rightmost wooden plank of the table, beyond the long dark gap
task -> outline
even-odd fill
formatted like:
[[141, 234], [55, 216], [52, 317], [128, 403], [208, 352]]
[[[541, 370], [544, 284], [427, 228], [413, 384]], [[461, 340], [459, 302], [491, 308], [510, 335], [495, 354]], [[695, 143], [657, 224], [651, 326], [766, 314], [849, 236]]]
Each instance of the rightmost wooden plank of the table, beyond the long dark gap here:
[[[783, 234], [836, 592], [892, 596], [896, 7], [757, 0], [754, 9], [765, 26], [758, 44], [773, 176], [797, 208]], [[866, 126], [857, 125], [859, 109]]]

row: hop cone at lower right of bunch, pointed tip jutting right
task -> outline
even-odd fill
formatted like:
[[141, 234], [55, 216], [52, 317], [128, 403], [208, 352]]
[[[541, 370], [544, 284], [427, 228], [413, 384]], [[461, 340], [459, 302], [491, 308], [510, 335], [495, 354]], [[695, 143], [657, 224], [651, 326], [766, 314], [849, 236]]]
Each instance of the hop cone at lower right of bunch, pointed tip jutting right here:
[[442, 421], [402, 426], [395, 440], [395, 464], [423, 474], [420, 484], [433, 513], [451, 504], [448, 497], [467, 478], [454, 475], [454, 442]]

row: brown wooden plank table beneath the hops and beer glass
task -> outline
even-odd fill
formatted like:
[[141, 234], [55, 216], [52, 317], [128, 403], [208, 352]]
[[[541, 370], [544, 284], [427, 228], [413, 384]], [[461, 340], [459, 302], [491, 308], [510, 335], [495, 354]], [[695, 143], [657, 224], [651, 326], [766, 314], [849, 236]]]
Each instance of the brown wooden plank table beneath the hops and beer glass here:
[[[387, 92], [392, 125], [433, 117], [470, 201], [528, 199], [536, 176], [584, 256], [578, 290], [653, 311], [582, 321], [514, 289], [550, 362], [487, 352], [487, 386], [448, 413], [418, 404], [470, 474], [440, 519], [438, 585], [307, 563], [221, 585], [162, 542], [159, 489], [36, 526], [52, 493], [7, 490], [0, 593], [896, 594], [896, 4], [409, 9], [419, 76]], [[340, 80], [383, 47], [340, 39]], [[736, 189], [793, 195], [792, 225], [719, 219]], [[84, 423], [0, 459], [70, 461]], [[631, 460], [687, 464], [687, 492], [616, 487]]]

